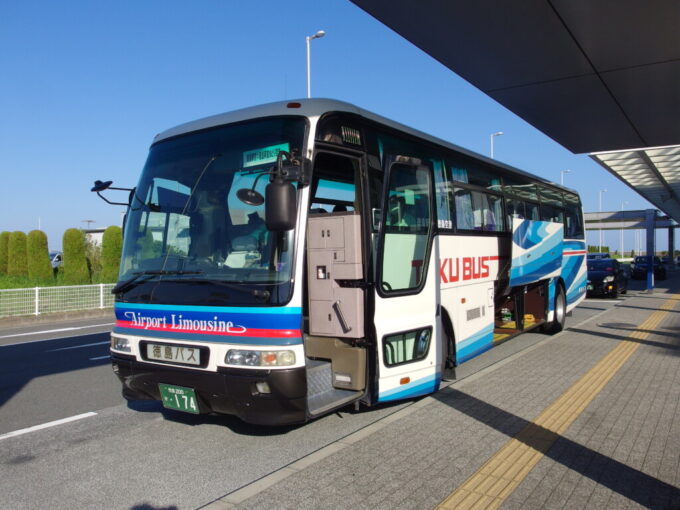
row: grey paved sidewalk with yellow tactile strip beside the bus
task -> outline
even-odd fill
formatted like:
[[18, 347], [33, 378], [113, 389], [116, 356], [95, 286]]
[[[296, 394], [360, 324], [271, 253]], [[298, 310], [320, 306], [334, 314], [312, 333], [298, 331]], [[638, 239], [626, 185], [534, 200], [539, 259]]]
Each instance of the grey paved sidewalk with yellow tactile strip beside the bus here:
[[[680, 285], [665, 286], [205, 508], [680, 508]], [[528, 453], [502, 458], [513, 443]]]

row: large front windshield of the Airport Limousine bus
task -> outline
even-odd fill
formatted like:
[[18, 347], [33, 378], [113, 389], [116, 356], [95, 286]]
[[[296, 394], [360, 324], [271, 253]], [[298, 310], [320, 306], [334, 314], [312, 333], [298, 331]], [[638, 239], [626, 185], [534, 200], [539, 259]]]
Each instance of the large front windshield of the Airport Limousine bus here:
[[[289, 281], [294, 233], [268, 231], [264, 204], [246, 205], [236, 192], [270, 170], [279, 151], [301, 153], [305, 126], [276, 117], [153, 145], [132, 197], [119, 280]], [[255, 189], [264, 194], [268, 182], [263, 176]]]

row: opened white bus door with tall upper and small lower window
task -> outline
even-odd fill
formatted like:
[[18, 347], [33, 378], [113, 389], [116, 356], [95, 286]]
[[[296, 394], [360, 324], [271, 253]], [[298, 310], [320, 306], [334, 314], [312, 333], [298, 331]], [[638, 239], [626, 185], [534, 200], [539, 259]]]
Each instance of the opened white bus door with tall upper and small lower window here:
[[397, 162], [386, 179], [374, 318], [379, 401], [431, 393], [441, 375], [436, 263], [430, 260], [432, 170]]

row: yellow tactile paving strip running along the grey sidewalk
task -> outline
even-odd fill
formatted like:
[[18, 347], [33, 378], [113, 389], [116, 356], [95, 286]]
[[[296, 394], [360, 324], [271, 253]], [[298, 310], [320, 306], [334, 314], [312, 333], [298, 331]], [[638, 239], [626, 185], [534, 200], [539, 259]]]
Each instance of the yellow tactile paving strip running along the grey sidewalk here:
[[623, 364], [673, 309], [680, 295], [673, 295], [609, 351], [593, 368], [545, 408], [514, 438], [482, 465], [458, 489], [442, 501], [441, 510], [498, 508], [541, 460], [560, 435], [614, 377]]

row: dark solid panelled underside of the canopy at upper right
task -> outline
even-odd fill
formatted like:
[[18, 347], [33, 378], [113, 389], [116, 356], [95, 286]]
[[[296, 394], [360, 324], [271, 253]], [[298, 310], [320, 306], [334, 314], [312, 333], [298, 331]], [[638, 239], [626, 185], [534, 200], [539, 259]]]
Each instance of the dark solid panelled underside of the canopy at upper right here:
[[352, 2], [574, 153], [680, 144], [677, 0]]

